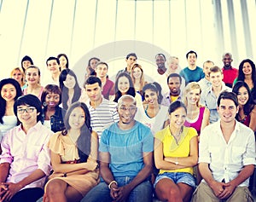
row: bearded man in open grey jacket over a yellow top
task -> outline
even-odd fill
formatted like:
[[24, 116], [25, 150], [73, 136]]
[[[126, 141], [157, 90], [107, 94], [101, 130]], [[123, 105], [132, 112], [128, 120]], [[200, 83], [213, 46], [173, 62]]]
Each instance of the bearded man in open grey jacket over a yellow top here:
[[181, 100], [181, 89], [182, 78], [177, 73], [171, 73], [167, 78], [167, 85], [169, 87], [169, 92], [164, 94], [161, 105], [169, 107], [173, 101]]

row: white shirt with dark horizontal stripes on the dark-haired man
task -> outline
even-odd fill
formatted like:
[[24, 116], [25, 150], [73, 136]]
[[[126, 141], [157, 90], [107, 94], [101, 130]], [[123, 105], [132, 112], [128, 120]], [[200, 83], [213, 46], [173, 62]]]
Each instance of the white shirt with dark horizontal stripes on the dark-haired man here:
[[90, 100], [86, 101], [86, 105], [90, 112], [90, 125], [92, 130], [96, 131], [99, 140], [102, 136], [102, 131], [110, 124], [119, 121], [119, 114], [117, 113], [117, 103], [108, 101], [102, 97], [102, 103], [95, 108], [90, 106]]

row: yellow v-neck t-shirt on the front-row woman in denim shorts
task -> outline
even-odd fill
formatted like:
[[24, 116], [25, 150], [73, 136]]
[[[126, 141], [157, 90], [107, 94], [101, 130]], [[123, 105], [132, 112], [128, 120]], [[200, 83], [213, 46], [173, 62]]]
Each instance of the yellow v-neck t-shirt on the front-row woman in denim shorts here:
[[[183, 126], [183, 134], [181, 136], [180, 141], [176, 142], [174, 137], [169, 130], [169, 125], [163, 129], [158, 131], [155, 134], [155, 138], [159, 139], [163, 144], [163, 154], [164, 157], [189, 157], [190, 153], [190, 140], [197, 136], [197, 132], [194, 128], [184, 127]], [[193, 175], [193, 167], [187, 167], [183, 169], [177, 170], [160, 170], [160, 174], [164, 172], [189, 172]]]

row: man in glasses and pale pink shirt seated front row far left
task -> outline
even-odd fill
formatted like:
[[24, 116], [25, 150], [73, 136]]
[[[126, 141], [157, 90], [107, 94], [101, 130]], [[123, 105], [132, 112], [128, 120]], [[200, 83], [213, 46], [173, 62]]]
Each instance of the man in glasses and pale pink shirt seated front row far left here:
[[9, 130], [1, 143], [0, 199], [36, 202], [44, 194], [51, 168], [47, 144], [52, 132], [41, 124], [42, 105], [37, 96], [20, 96], [14, 112], [20, 125]]

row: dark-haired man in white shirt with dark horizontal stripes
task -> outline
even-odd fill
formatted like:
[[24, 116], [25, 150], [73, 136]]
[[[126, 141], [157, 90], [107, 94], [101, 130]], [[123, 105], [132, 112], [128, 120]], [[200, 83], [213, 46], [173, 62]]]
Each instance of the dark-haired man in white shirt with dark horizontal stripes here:
[[102, 81], [96, 76], [90, 76], [84, 83], [84, 89], [89, 97], [85, 102], [90, 112], [90, 124], [101, 139], [102, 131], [110, 124], [119, 121], [117, 103], [108, 101], [102, 95]]

